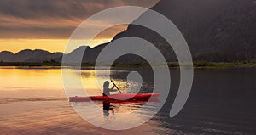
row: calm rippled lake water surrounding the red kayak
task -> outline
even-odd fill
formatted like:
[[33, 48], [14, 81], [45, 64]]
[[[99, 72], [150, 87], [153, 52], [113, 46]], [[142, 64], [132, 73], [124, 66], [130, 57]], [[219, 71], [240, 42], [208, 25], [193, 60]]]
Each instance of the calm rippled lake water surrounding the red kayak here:
[[[67, 69], [70, 70], [70, 69]], [[154, 77], [149, 68], [113, 69], [114, 82], [125, 93], [134, 93], [137, 82], [126, 82], [132, 70], [143, 76], [140, 93], [150, 93]], [[77, 70], [70, 75], [78, 77]], [[0, 68], [0, 134], [255, 134], [256, 133], [256, 68], [195, 70], [194, 84], [187, 104], [174, 118], [169, 118], [177, 93], [179, 70], [170, 70], [172, 87], [169, 98], [150, 121], [130, 130], [109, 131], [95, 127], [75, 113], [67, 101], [61, 80], [61, 69]], [[96, 82], [94, 70], [82, 70], [82, 83], [89, 95], [101, 95], [105, 71]], [[128, 87], [131, 87], [129, 89]], [[80, 87], [73, 86], [74, 89]], [[96, 103], [102, 108], [102, 103]], [[87, 103], [72, 104], [90, 106]], [[124, 120], [115, 114], [137, 110], [142, 104], [112, 104], [113, 111], [98, 119], [138, 121], [153, 111], [148, 110]], [[91, 112], [93, 113], [93, 112]]]

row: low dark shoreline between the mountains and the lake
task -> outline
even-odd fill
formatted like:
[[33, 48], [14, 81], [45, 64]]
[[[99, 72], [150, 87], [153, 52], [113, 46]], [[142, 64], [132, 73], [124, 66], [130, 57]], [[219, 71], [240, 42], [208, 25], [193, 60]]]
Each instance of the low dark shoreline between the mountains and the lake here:
[[[249, 68], [256, 67], [256, 62], [194, 62], [195, 69], [226, 69], [226, 68]], [[167, 63], [169, 68], [178, 69], [179, 65], [177, 62]], [[68, 67], [68, 65], [63, 65]], [[113, 68], [147, 68], [150, 67], [147, 63], [132, 63], [132, 64], [122, 64], [117, 63], [112, 65]], [[162, 66], [162, 65], [156, 65]], [[61, 69], [61, 63], [27, 63], [27, 62], [0, 62], [0, 67], [19, 67], [19, 68], [45, 68], [45, 69]], [[95, 64], [83, 63], [82, 68], [94, 69]], [[102, 65], [104, 67], [104, 65]]]

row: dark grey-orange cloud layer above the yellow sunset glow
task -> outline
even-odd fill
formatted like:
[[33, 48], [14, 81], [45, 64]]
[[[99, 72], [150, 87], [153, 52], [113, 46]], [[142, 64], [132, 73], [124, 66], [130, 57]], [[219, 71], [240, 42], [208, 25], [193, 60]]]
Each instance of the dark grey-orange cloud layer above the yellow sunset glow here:
[[158, 0], [1, 0], [0, 38], [67, 38], [92, 14], [117, 6], [149, 8]]

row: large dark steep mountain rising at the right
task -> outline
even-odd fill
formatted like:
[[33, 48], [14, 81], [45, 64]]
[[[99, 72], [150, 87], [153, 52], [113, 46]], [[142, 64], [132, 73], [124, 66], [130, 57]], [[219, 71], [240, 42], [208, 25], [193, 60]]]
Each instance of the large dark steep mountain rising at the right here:
[[[194, 61], [256, 61], [256, 1], [160, 0], [152, 9], [177, 25], [188, 42]], [[148, 12], [145, 12], [135, 21], [155, 21], [147, 14]], [[129, 25], [127, 30], [117, 34], [112, 42], [122, 37], [143, 38], [152, 42], [167, 61], [177, 61], [166, 40], [154, 31], [138, 25]], [[99, 53], [98, 48], [105, 46], [106, 44], [89, 48], [90, 53], [84, 53], [84, 56], [95, 59]], [[118, 61], [144, 60], [135, 55], [126, 55]]]

